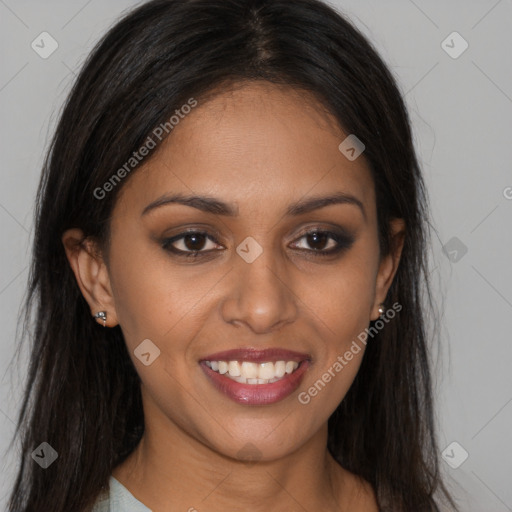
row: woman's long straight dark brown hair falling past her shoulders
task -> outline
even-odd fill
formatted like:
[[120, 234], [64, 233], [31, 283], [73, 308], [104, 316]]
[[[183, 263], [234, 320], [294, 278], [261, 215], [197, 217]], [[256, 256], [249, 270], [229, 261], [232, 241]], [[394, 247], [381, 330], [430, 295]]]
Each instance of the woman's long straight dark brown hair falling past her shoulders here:
[[[454, 506], [440, 479], [434, 433], [425, 320], [434, 306], [428, 201], [395, 78], [352, 23], [318, 0], [155, 0], [96, 45], [44, 164], [21, 317], [31, 359], [11, 512], [88, 510], [144, 432], [140, 380], [121, 330], [91, 319], [62, 234], [80, 228], [108, 247], [110, 215], [129, 176], [104, 197], [98, 188], [190, 98], [200, 102], [247, 80], [310, 92], [365, 144], [382, 255], [390, 250], [390, 219], [406, 223], [386, 299], [402, 309], [368, 342], [352, 387], [329, 419], [328, 449], [371, 483], [382, 511]], [[58, 454], [47, 469], [31, 456], [42, 442]]]

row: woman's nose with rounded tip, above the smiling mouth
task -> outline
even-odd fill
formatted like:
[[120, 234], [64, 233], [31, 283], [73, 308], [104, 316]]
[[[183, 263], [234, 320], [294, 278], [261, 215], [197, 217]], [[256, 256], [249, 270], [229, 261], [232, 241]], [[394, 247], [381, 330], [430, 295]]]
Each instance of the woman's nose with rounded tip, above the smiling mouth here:
[[245, 326], [255, 334], [292, 323], [298, 298], [289, 274], [271, 250], [264, 250], [252, 263], [238, 258], [221, 307], [224, 321]]

